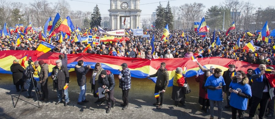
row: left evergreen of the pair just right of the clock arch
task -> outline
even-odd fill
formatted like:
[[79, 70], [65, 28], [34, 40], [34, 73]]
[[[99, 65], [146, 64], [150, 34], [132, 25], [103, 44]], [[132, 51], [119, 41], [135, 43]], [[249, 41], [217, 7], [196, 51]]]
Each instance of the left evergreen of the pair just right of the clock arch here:
[[165, 14], [164, 14], [164, 7], [162, 7], [162, 5], [160, 4], [159, 6], [157, 6], [156, 9], [156, 29], [163, 29], [166, 25], [165, 22]]

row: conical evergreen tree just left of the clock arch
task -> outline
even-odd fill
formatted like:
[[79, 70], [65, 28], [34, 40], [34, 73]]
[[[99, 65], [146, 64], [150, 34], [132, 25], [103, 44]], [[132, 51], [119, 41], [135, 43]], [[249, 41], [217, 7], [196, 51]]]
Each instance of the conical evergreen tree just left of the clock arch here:
[[94, 7], [94, 12], [91, 14], [91, 22], [90, 22], [90, 27], [94, 26], [100, 26], [101, 23], [101, 14], [99, 12], [98, 5]]

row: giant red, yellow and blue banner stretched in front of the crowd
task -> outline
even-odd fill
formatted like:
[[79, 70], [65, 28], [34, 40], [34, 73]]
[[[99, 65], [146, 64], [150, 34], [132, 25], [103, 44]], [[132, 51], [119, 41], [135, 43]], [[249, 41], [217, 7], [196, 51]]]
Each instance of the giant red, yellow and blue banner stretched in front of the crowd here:
[[[32, 60], [39, 61], [44, 60], [49, 64], [49, 72], [51, 75], [52, 68], [56, 65], [55, 61], [58, 60], [58, 55], [60, 53], [46, 52], [40, 57], [34, 56], [35, 51], [22, 51], [22, 50], [9, 50], [0, 52], [0, 73], [12, 74], [10, 71], [10, 66], [13, 64], [13, 60], [21, 59], [22, 57], [28, 55], [32, 57]], [[199, 66], [196, 62], [190, 60], [190, 58], [173, 58], [173, 59], [141, 59], [141, 58], [127, 58], [118, 56], [107, 56], [107, 55], [97, 55], [89, 53], [79, 53], [79, 54], [68, 54], [68, 69], [73, 71], [78, 60], [84, 60], [84, 65], [91, 65], [91, 68], [95, 67], [97, 62], [101, 63], [102, 68], [110, 70], [113, 74], [119, 74], [118, 69], [121, 69], [122, 63], [127, 63], [128, 68], [131, 71], [131, 76], [135, 78], [146, 78], [147, 75], [155, 74], [160, 68], [160, 63], [165, 62], [166, 68], [169, 73], [169, 86], [173, 85], [173, 78], [175, 70], [177, 67], [182, 67], [182, 69], [187, 69], [183, 71], [183, 74], [188, 77], [195, 76], [196, 74], [202, 74]], [[255, 69], [259, 65], [247, 62], [241, 62], [237, 60], [221, 58], [221, 57], [211, 57], [211, 58], [199, 58], [197, 61], [205, 68], [210, 69], [210, 66], [222, 69], [222, 71], [228, 70], [229, 64], [234, 64], [237, 70], [247, 71], [248, 68]], [[24, 65], [27, 67], [28, 62], [26, 61]], [[40, 67], [39, 67], [40, 70]], [[38, 77], [36, 77], [38, 78]], [[115, 78], [117, 79], [117, 78]], [[153, 82], [156, 82], [155, 78], [150, 78]], [[38, 80], [38, 79], [37, 79]]]

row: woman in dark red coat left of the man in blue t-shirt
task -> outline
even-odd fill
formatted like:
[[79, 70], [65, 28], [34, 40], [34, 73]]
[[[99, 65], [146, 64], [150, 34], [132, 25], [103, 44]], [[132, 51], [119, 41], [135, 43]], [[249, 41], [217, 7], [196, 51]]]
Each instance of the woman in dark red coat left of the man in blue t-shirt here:
[[211, 76], [211, 72], [209, 69], [204, 71], [204, 74], [198, 76], [195, 78], [197, 82], [200, 83], [200, 91], [199, 91], [199, 103], [202, 105], [201, 109], [205, 111], [205, 113], [208, 113], [209, 111], [209, 99], [207, 96], [207, 90], [204, 87], [206, 79]]

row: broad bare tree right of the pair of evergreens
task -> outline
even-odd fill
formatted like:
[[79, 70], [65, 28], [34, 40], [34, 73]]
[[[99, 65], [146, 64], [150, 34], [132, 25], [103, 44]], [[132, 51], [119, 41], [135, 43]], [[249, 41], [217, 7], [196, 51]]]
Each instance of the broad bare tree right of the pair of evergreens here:
[[204, 8], [205, 6], [202, 3], [186, 3], [179, 7], [179, 12], [184, 19], [188, 21], [187, 26], [191, 26], [191, 28], [193, 28], [194, 21], [201, 19]]

